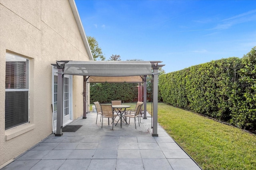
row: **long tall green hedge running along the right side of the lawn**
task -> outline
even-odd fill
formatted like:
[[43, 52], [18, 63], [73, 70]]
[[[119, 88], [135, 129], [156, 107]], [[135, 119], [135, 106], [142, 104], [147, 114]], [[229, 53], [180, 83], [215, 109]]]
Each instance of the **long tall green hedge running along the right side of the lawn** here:
[[163, 102], [256, 129], [255, 51], [159, 76]]

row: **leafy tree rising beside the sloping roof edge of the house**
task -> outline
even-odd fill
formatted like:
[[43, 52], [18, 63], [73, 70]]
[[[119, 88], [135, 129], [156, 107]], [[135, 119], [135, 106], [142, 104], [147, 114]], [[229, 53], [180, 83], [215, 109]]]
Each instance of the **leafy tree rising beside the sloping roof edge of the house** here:
[[92, 56], [94, 58], [94, 60], [100, 60], [100, 61], [104, 61], [105, 57], [101, 51], [101, 48], [98, 45], [98, 42], [96, 41], [96, 39], [94, 37], [90, 37], [87, 36], [87, 40], [90, 46], [90, 49], [92, 51]]

